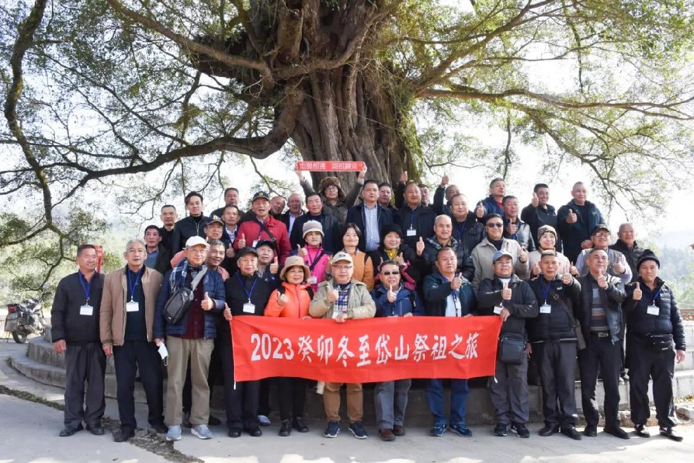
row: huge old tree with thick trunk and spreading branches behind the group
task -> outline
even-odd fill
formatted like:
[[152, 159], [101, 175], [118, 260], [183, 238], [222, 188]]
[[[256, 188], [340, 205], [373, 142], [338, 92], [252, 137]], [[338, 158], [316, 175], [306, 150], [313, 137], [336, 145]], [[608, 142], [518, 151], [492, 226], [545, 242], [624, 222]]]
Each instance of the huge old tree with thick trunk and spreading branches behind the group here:
[[[42, 207], [4, 214], [0, 246], [47, 267], [21, 279], [43, 285], [103, 229], [91, 192], [151, 208], [164, 192], [219, 187], [219, 167], [239, 155], [280, 150], [364, 160], [394, 181], [449, 163], [506, 173], [530, 146], [538, 171], [582, 163], [610, 201], [657, 206], [693, 165], [693, 8], [11, 0], [0, 6], [0, 194]], [[491, 148], [490, 133], [501, 135]]]

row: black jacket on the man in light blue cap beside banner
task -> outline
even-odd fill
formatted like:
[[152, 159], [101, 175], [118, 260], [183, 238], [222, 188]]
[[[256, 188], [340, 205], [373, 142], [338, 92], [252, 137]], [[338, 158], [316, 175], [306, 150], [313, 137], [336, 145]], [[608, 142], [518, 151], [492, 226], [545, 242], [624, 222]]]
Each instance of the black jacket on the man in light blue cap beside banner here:
[[527, 281], [521, 280], [516, 275], [511, 275], [509, 281], [509, 288], [511, 288], [509, 301], [504, 301], [501, 297], [503, 288], [504, 285], [498, 276], [484, 278], [480, 283], [480, 289], [477, 289], [477, 310], [480, 315], [495, 315], [494, 308], [497, 305], [502, 305], [511, 312], [511, 317], [501, 325], [500, 334], [525, 335], [525, 322], [527, 319], [537, 317], [540, 312], [535, 294]]

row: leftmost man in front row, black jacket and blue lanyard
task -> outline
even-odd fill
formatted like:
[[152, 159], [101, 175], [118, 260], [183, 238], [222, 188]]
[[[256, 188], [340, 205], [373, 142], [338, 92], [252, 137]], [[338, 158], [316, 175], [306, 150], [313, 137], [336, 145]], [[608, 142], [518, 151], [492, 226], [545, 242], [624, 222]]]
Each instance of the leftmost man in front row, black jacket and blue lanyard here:
[[53, 351], [65, 353], [65, 429], [60, 431], [60, 437], [82, 430], [82, 421], [93, 435], [103, 435], [106, 356], [99, 338], [103, 275], [96, 272], [96, 262], [92, 244], [78, 247], [79, 271], [60, 280], [53, 299]]

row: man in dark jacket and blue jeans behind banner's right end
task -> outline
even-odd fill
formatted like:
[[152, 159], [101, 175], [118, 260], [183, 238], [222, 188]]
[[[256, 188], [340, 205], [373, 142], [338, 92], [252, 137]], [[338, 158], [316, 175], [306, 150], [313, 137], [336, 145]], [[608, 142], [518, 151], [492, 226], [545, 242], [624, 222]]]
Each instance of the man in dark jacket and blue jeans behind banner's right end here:
[[[457, 272], [457, 256], [448, 247], [439, 249], [436, 272], [424, 278], [425, 314], [433, 317], [470, 317], [475, 312], [475, 293], [470, 282]], [[443, 322], [445, 323], [445, 322]], [[473, 435], [466, 423], [468, 380], [450, 380], [450, 424], [457, 435]], [[443, 380], [433, 378], [427, 385], [427, 402], [434, 415], [430, 434], [441, 437], [446, 432], [446, 411], [443, 401]]]

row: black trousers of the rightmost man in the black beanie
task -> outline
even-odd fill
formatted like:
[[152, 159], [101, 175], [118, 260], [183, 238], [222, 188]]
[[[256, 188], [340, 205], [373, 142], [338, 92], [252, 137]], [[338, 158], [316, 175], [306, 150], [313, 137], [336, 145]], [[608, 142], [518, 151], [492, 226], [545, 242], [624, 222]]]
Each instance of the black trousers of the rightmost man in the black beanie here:
[[629, 362], [629, 403], [634, 425], [645, 424], [650, 418], [648, 380], [653, 380], [653, 401], [658, 425], [672, 428], [677, 424], [672, 396], [672, 377], [675, 376], [675, 351], [650, 351], [638, 337], [627, 337]]

